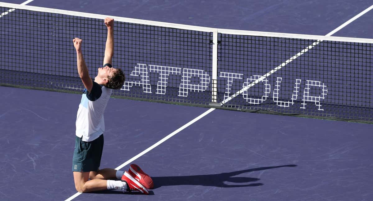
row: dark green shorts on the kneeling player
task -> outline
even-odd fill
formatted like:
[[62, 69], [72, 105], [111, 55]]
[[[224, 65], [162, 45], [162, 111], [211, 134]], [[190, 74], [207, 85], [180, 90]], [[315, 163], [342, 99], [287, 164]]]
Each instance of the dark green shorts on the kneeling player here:
[[98, 171], [100, 167], [102, 150], [104, 147], [104, 134], [97, 139], [85, 142], [82, 138], [75, 136], [75, 149], [72, 159], [73, 172]]

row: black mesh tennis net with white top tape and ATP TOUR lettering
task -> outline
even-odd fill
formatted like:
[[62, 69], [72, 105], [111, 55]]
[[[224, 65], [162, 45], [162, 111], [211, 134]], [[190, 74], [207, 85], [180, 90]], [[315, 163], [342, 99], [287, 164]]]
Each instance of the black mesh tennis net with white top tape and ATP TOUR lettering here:
[[[81, 92], [75, 37], [96, 76], [106, 16], [0, 6], [0, 85]], [[373, 123], [372, 39], [113, 18], [116, 97]]]

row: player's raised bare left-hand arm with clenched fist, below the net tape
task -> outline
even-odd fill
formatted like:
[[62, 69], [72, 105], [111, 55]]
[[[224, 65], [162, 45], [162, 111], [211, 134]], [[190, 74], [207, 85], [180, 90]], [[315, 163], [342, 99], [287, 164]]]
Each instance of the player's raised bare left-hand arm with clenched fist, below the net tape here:
[[88, 73], [88, 68], [83, 58], [82, 39], [74, 38], [72, 41], [74, 42], [74, 47], [76, 50], [76, 63], [78, 66], [79, 77], [82, 79], [85, 89], [91, 93], [93, 81]]

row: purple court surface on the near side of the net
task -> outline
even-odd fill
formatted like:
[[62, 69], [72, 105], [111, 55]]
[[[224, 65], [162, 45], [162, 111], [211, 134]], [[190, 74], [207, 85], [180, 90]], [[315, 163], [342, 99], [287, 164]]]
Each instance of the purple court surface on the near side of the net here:
[[[80, 95], [1, 92], [2, 199], [75, 194], [72, 105]], [[206, 110], [110, 100], [101, 167], [121, 165]], [[153, 176], [151, 195], [103, 191], [74, 200], [369, 200], [371, 130], [370, 124], [215, 110], [134, 161]]]

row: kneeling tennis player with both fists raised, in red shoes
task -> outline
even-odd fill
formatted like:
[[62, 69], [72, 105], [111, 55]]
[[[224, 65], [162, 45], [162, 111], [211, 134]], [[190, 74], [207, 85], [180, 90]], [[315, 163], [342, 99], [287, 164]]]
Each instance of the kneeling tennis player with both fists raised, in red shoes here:
[[78, 192], [115, 189], [148, 194], [147, 188], [153, 188], [153, 181], [139, 166], [132, 164], [128, 172], [111, 168], [99, 169], [104, 145], [103, 114], [113, 89], [120, 89], [125, 79], [122, 70], [112, 67], [114, 19], [107, 17], [104, 23], [107, 27], [104, 62], [103, 67], [98, 68], [94, 81], [83, 58], [82, 39], [73, 39], [78, 73], [85, 87], [76, 116], [72, 164], [75, 188]]

